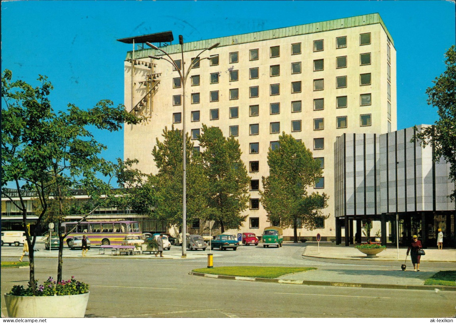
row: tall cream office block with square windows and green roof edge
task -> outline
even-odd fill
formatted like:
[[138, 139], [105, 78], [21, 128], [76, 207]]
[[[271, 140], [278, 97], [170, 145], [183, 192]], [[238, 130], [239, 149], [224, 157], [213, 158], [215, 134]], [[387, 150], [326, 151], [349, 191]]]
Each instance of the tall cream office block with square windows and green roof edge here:
[[[214, 26], [216, 27], [216, 26]], [[124, 62], [125, 105], [149, 117], [124, 128], [124, 158], [138, 158], [144, 172], [156, 172], [151, 151], [165, 127], [187, 132], [199, 149], [202, 125], [219, 127], [238, 139], [252, 178], [248, 215], [242, 231], [261, 235], [270, 225], [259, 203], [261, 178], [268, 176], [268, 149], [285, 131], [303, 141], [321, 161], [324, 177], [311, 190], [329, 195], [318, 229], [300, 229], [301, 237], [335, 239], [334, 143], [343, 133], [381, 134], [396, 130], [396, 50], [378, 14], [300, 26], [223, 36], [172, 45], [171, 31], [119, 39], [132, 43]], [[186, 114], [182, 84], [163, 53], [144, 46], [154, 43], [187, 71]], [[162, 43], [166, 43], [163, 46]], [[136, 48], [135, 48], [136, 46]], [[147, 48], [145, 48], [147, 47]], [[139, 48], [139, 49], [138, 49]], [[165, 56], [166, 57], [166, 56]], [[209, 58], [209, 59], [205, 59]], [[191, 223], [202, 231], [206, 224]], [[284, 231], [291, 236], [292, 229]], [[324, 238], [323, 238], [324, 239]]]

